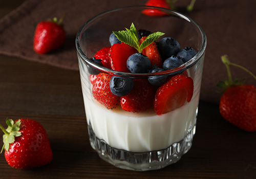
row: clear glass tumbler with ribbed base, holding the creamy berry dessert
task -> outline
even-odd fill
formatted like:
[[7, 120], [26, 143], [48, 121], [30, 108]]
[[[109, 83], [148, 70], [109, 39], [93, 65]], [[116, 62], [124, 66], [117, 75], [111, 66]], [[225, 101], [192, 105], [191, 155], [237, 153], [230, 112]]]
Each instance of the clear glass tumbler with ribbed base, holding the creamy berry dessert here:
[[[149, 8], [166, 14], [154, 17], [142, 13]], [[192, 47], [197, 54], [179, 68], [157, 73], [119, 72], [92, 62], [97, 51], [110, 47], [109, 37], [113, 31], [129, 29], [132, 23], [137, 30], [165, 33], [156, 43], [161, 38], [172, 37], [180, 43], [181, 49]], [[177, 11], [147, 6], [122, 7], [88, 20], [77, 33], [76, 48], [90, 143], [100, 158], [116, 167], [137, 171], [160, 169], [180, 160], [190, 149], [196, 132], [206, 48], [206, 36], [202, 28], [193, 19]], [[179, 99], [182, 97], [177, 92], [178, 97], [173, 100], [185, 99], [183, 105], [161, 115], [156, 114], [153, 105], [141, 113], [124, 111], [120, 104], [108, 109], [93, 97], [92, 81], [94, 77], [97, 80], [97, 77], [91, 74], [92, 69], [110, 77], [121, 76], [134, 81], [160, 76], [172, 78], [183, 72], [182, 75], [193, 79], [193, 96], [186, 101], [187, 97], [183, 95], [183, 99]], [[181, 89], [188, 93], [184, 90]]]

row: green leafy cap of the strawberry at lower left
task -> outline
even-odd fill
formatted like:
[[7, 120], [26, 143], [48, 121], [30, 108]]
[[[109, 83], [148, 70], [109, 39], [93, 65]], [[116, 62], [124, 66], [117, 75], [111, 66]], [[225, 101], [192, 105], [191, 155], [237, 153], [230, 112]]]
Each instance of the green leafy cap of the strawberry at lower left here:
[[0, 128], [3, 130], [3, 132], [5, 133], [3, 136], [3, 148], [1, 150], [1, 153], [3, 152], [3, 150], [5, 149], [6, 151], [9, 150], [10, 144], [13, 143], [15, 141], [15, 137], [21, 136], [22, 133], [19, 131], [19, 126], [21, 124], [20, 120], [16, 121], [14, 123], [14, 121], [12, 119], [6, 119], [6, 124], [8, 125], [8, 128], [5, 129], [1, 124], [0, 124]]

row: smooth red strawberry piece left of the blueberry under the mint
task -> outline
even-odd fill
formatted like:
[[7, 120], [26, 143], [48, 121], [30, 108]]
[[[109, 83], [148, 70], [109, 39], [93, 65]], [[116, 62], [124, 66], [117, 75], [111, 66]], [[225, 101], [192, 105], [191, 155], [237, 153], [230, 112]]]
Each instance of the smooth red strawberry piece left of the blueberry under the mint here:
[[127, 69], [126, 61], [137, 50], [126, 43], [115, 43], [109, 50], [109, 59], [112, 70], [119, 72], [130, 72]]

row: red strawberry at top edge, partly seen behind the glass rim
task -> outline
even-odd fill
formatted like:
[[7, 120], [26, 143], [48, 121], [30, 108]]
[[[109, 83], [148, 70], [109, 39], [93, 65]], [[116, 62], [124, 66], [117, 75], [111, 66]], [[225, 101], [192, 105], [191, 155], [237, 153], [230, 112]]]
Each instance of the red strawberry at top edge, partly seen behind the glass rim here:
[[[156, 6], [156, 7], [166, 8], [166, 9], [172, 9], [170, 7], [170, 4], [167, 2], [167, 0], [148, 0], [145, 6]], [[142, 13], [148, 16], [157, 16], [157, 17], [168, 15], [168, 13], [161, 10], [157, 10], [157, 9], [145, 9], [142, 11]]]

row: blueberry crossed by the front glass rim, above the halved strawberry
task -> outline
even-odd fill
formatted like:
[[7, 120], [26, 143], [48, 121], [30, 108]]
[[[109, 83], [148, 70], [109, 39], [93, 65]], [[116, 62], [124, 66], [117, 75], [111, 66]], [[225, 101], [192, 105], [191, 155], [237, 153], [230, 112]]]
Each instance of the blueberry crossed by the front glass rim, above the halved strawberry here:
[[[152, 70], [150, 70], [148, 73], [156, 73], [156, 72], [163, 72], [164, 70], [159, 68], [156, 65], [152, 66]], [[152, 74], [154, 75], [154, 74]], [[154, 86], [161, 86], [165, 83], [167, 79], [167, 75], [158, 75], [158, 76], [151, 76], [148, 77], [148, 81], [154, 85]]]

